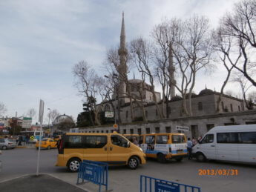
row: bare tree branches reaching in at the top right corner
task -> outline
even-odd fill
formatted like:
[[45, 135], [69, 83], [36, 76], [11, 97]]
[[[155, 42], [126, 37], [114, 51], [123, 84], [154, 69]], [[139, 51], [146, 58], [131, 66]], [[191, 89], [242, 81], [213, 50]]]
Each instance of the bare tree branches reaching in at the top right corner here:
[[256, 62], [253, 54], [256, 50], [256, 3], [255, 0], [244, 0], [234, 4], [232, 13], [223, 17], [221, 25], [223, 34], [234, 38], [237, 47], [240, 47], [243, 62], [234, 64], [243, 76], [256, 86]]

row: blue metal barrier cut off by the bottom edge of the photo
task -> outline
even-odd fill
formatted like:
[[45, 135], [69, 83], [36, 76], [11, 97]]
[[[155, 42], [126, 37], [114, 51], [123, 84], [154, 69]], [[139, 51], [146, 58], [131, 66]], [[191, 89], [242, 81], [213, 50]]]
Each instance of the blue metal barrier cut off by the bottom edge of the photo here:
[[200, 188], [169, 182], [150, 176], [140, 176], [140, 192], [200, 192]]

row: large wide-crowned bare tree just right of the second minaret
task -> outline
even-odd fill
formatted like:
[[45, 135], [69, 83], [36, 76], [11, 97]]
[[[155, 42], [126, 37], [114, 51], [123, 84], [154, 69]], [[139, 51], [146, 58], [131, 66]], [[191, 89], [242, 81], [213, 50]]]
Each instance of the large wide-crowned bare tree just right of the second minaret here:
[[[183, 97], [183, 113], [191, 116], [191, 95], [197, 72], [202, 69], [209, 70], [211, 67], [212, 42], [209, 20], [203, 16], [193, 16], [185, 21], [178, 20], [174, 24], [177, 35], [174, 37], [171, 49], [177, 71], [181, 76], [175, 87]], [[188, 98], [188, 110], [186, 98]]]

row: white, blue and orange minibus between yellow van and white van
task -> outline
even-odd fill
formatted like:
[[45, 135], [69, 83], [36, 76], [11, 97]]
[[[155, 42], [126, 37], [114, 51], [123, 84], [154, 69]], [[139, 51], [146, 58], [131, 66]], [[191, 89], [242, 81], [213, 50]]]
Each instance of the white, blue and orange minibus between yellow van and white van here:
[[188, 153], [183, 133], [142, 134], [139, 145], [147, 157], [156, 158], [159, 162], [166, 162], [168, 159], [180, 162]]

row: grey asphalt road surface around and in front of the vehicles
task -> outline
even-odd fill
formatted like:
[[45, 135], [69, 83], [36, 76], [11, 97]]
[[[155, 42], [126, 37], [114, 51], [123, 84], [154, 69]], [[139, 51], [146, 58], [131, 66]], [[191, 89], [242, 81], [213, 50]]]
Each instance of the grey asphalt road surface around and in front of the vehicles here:
[[[3, 170], [0, 173], [0, 181], [11, 179], [23, 174], [36, 173], [36, 149], [2, 150], [0, 159], [3, 162]], [[57, 150], [42, 150], [40, 159], [40, 173], [50, 173], [60, 179], [76, 183], [77, 173], [68, 173], [66, 168], [55, 167]], [[237, 170], [236, 176], [199, 175], [200, 170]], [[255, 191], [256, 166], [232, 164], [227, 162], [200, 163], [195, 160], [183, 162], [167, 162], [160, 164], [149, 159], [146, 165], [137, 170], [129, 170], [125, 166], [109, 169], [110, 188], [114, 191], [130, 192], [140, 191], [140, 175], [152, 176], [172, 182], [186, 185], [195, 185], [202, 191], [226, 192], [226, 191]], [[90, 183], [80, 185], [89, 191], [96, 191], [96, 186]]]

